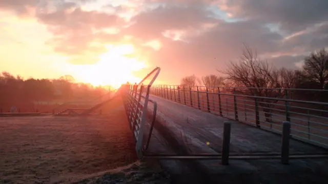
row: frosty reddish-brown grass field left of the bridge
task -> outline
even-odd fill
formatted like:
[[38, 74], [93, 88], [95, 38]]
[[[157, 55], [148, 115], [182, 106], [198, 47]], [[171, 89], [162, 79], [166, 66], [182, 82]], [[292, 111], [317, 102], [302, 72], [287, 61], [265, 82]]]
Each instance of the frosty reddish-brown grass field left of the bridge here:
[[101, 116], [0, 117], [0, 183], [62, 183], [135, 161], [124, 107], [104, 108]]

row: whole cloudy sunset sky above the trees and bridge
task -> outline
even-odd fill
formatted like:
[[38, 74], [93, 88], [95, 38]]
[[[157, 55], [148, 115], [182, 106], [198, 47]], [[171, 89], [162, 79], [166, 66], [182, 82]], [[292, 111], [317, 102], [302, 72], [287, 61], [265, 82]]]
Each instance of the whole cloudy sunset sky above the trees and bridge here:
[[118, 85], [218, 73], [243, 44], [297, 69], [328, 48], [326, 0], [0, 0], [0, 69]]

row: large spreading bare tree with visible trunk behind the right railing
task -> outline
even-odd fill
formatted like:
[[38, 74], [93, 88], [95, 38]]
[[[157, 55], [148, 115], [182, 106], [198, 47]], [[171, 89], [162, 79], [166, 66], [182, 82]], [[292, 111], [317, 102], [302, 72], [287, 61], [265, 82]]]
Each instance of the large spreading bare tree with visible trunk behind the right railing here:
[[[226, 74], [233, 86], [242, 87], [235, 88], [236, 93], [248, 95], [251, 99], [255, 100], [254, 96], [270, 98], [284, 96], [279, 81], [281, 78], [279, 70], [269, 66], [267, 61], [261, 60], [256, 51], [247, 45], [244, 45], [242, 57], [238, 63], [230, 62], [226, 70], [218, 71]], [[256, 99], [264, 111], [265, 120], [271, 122], [272, 109], [278, 99]]]

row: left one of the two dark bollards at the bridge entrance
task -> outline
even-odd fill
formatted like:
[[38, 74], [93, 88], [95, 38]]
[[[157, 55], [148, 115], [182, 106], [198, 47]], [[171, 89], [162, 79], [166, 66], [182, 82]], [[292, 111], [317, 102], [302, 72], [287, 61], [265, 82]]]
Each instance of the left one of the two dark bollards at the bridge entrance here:
[[231, 121], [224, 121], [222, 151], [221, 151], [221, 154], [222, 154], [221, 164], [222, 165], [229, 165], [230, 135], [231, 135]]

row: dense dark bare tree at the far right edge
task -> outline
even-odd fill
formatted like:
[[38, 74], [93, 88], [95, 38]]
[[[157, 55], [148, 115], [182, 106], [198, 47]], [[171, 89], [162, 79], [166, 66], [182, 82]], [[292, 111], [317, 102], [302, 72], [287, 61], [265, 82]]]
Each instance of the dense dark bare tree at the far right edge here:
[[328, 52], [321, 49], [305, 57], [303, 70], [318, 84], [319, 89], [324, 89], [328, 83]]

